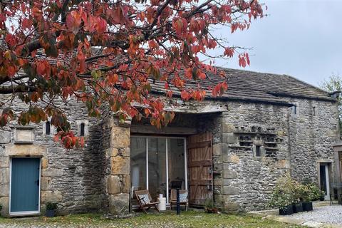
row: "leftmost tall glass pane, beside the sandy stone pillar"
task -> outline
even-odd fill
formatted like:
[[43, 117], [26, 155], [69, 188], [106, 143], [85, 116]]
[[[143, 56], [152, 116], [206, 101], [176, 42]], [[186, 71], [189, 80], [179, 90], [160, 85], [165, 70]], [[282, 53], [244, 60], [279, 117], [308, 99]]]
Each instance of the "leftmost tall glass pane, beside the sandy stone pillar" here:
[[130, 140], [130, 175], [134, 190], [146, 189], [146, 138]]

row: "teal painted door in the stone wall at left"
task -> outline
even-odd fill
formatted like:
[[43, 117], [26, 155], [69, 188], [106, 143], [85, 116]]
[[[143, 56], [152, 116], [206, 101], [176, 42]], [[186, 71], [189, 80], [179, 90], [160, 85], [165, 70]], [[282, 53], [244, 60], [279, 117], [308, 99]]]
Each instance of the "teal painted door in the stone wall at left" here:
[[39, 158], [12, 158], [11, 212], [38, 212]]

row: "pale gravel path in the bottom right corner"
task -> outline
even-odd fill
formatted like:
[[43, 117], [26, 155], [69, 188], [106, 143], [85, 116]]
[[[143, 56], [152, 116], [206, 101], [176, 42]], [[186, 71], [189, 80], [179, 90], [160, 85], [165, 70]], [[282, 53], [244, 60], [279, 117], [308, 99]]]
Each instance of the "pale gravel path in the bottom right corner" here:
[[312, 212], [296, 213], [289, 215], [289, 217], [314, 222], [342, 224], [342, 205], [314, 207]]

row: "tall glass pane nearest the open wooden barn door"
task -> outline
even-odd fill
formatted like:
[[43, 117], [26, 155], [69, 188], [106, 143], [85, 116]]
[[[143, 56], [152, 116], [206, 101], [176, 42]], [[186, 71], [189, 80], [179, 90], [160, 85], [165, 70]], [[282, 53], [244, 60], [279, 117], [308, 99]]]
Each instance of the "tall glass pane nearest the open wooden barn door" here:
[[185, 189], [185, 157], [184, 139], [170, 138], [167, 142], [167, 157], [169, 170], [169, 189], [175, 181], [182, 181], [182, 189]]

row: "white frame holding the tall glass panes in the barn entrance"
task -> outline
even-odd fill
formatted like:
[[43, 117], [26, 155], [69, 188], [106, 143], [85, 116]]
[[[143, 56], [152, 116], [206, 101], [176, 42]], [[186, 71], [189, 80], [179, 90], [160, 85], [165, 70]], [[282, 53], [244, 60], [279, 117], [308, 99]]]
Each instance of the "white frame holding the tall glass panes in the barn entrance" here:
[[[165, 138], [165, 147], [166, 147], [166, 151], [165, 151], [165, 154], [166, 154], [166, 188], [167, 188], [167, 191], [166, 191], [166, 205], [167, 206], [170, 206], [170, 202], [169, 202], [169, 172], [168, 172], [168, 160], [167, 160], [167, 157], [168, 157], [168, 146], [167, 146], [167, 139], [169, 138], [176, 138], [176, 139], [182, 139], [184, 140], [184, 165], [185, 165], [185, 190], [188, 190], [188, 186], [187, 186], [187, 183], [188, 183], [188, 180], [187, 180], [187, 138], [184, 137], [184, 136], [167, 136], [167, 135], [130, 135], [131, 138], [146, 138], [146, 152], [145, 152], [145, 155], [146, 155], [146, 189], [148, 190], [148, 138]], [[130, 173], [131, 175], [131, 173]], [[131, 185], [132, 185], [132, 182], [131, 182]], [[130, 186], [132, 187], [132, 186]]]

